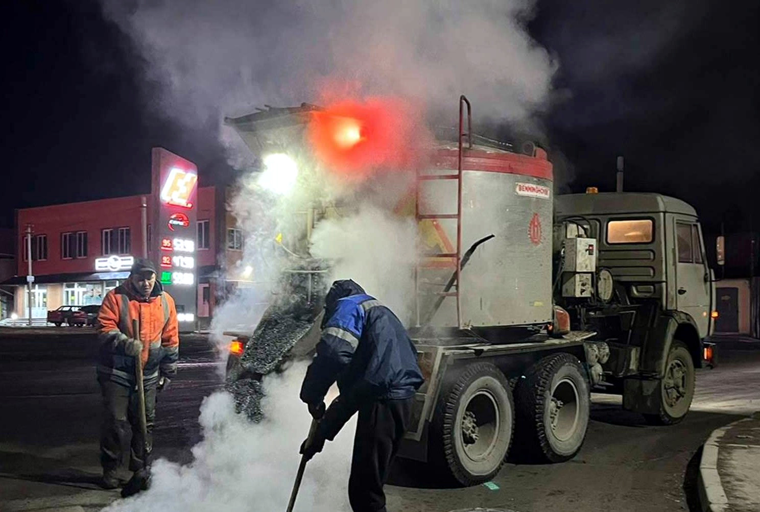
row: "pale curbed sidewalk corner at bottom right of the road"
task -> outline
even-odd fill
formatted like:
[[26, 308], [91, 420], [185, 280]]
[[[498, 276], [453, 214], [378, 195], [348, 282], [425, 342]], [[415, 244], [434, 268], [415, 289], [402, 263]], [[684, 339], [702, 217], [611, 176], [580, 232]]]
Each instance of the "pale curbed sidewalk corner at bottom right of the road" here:
[[699, 465], [702, 510], [760, 510], [760, 412], [717, 428]]

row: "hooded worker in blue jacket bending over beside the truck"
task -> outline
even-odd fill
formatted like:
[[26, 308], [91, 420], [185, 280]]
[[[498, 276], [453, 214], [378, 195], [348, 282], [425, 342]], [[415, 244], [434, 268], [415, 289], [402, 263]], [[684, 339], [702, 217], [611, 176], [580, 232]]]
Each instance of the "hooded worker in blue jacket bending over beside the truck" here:
[[[358, 411], [349, 501], [355, 511], [384, 511], [382, 487], [424, 380], [416, 349], [393, 311], [352, 280], [332, 284], [321, 328], [301, 387], [301, 400], [321, 421], [301, 453], [314, 457]], [[336, 381], [340, 396], [325, 411], [325, 394]]]

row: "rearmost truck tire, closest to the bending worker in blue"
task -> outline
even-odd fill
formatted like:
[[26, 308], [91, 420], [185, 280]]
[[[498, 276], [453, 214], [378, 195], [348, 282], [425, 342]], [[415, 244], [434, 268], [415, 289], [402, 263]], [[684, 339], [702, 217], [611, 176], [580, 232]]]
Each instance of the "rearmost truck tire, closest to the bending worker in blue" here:
[[455, 370], [441, 389], [430, 454], [461, 485], [487, 482], [504, 464], [515, 428], [515, 403], [499, 368], [475, 362]]

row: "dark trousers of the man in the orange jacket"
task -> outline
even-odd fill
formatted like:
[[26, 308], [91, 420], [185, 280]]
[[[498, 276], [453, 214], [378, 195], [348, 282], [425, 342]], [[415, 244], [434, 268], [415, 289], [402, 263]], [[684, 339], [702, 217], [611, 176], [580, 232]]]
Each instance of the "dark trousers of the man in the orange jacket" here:
[[[100, 429], [100, 464], [103, 469], [116, 469], [122, 461], [122, 440], [131, 425], [132, 438], [129, 450], [129, 469], [137, 471], [144, 466], [144, 439], [140, 428], [140, 403], [135, 386], [98, 378], [103, 393], [103, 425]], [[145, 419], [147, 422], [147, 462], [153, 448], [153, 422], [156, 417], [156, 384], [145, 387]]]

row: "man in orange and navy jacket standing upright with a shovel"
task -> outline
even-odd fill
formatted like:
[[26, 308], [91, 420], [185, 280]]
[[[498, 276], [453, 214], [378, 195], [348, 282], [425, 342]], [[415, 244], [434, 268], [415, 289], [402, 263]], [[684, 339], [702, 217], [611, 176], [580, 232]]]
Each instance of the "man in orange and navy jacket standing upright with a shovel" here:
[[[133, 319], [139, 322], [139, 337], [135, 337], [132, 330]], [[147, 486], [156, 393], [174, 378], [179, 359], [179, 327], [174, 299], [157, 282], [156, 267], [150, 260], [136, 259], [128, 280], [106, 294], [98, 321], [100, 358], [97, 379], [105, 409], [100, 433], [101, 485], [104, 488], [119, 485], [116, 469], [122, 458], [122, 438], [125, 438], [128, 423], [132, 431], [129, 469], [134, 474], [122, 495], [129, 495]], [[139, 419], [135, 380], [135, 358], [138, 356], [143, 364], [147, 439], [143, 439]]]

